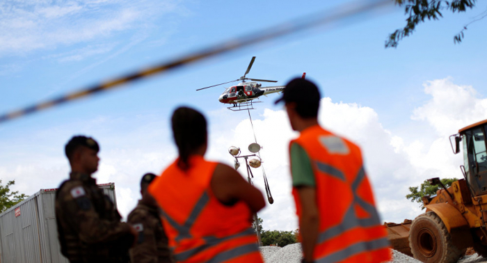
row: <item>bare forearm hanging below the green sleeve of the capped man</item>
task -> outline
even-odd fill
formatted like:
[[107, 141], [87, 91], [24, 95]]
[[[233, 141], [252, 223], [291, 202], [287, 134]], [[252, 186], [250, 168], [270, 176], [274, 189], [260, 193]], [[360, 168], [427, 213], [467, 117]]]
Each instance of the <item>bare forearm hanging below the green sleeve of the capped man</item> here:
[[299, 216], [299, 230], [303, 238], [303, 253], [305, 262], [313, 261], [314, 246], [319, 234], [319, 212], [316, 203], [316, 189], [309, 186], [299, 186], [299, 202], [301, 215]]

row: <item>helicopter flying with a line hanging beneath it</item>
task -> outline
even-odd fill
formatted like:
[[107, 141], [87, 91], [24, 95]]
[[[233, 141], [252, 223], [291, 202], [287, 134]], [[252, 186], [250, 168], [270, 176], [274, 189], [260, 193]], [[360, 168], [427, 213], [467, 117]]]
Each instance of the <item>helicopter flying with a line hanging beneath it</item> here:
[[[253, 99], [257, 99], [258, 97], [264, 95], [268, 95], [271, 93], [281, 93], [284, 90], [285, 86], [266, 86], [262, 87], [261, 83], [257, 83], [257, 81], [262, 82], [278, 82], [268, 79], [251, 79], [246, 77], [248, 72], [250, 72], [250, 68], [252, 67], [255, 61], [255, 56], [252, 57], [250, 60], [250, 64], [248, 64], [247, 70], [244, 76], [240, 77], [239, 79], [235, 79], [232, 81], [227, 81], [224, 83], [216, 84], [213, 86], [208, 86], [205, 88], [212, 88], [215, 86], [220, 86], [226, 83], [231, 83], [234, 81], [241, 81], [237, 84], [237, 86], [230, 86], [223, 91], [223, 93], [218, 97], [218, 101], [223, 104], [232, 104], [233, 106], [227, 107], [232, 111], [246, 111], [248, 109], [253, 108]], [[306, 76], [306, 72], [303, 73], [303, 79]], [[246, 81], [250, 80], [250, 81]], [[204, 90], [205, 88], [198, 88], [197, 90]], [[267, 96], [266, 96], [267, 97]]]

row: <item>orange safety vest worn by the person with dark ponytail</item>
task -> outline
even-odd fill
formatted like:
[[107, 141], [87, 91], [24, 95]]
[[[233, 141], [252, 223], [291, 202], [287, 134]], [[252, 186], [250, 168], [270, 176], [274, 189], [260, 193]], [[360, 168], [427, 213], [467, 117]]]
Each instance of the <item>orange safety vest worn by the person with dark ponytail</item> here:
[[163, 210], [164, 230], [176, 261], [263, 262], [248, 206], [242, 201], [223, 205], [211, 191], [218, 163], [191, 156], [189, 164], [184, 171], [176, 160], [148, 188]]

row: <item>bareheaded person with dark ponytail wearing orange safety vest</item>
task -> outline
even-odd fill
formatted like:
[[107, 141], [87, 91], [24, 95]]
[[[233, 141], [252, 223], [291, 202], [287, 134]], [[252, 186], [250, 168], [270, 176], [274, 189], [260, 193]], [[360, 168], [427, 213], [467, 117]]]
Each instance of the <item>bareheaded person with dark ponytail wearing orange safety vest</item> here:
[[207, 122], [187, 107], [172, 117], [179, 157], [149, 186], [176, 262], [262, 263], [252, 215], [262, 193], [225, 164], [207, 161]]

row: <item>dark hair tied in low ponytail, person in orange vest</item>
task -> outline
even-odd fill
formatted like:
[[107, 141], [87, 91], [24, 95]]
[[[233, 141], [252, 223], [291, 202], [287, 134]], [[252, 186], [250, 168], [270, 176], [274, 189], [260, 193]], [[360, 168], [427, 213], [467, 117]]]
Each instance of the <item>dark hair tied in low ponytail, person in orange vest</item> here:
[[207, 141], [207, 121], [199, 111], [182, 106], [174, 111], [171, 124], [179, 152], [177, 165], [182, 170], [187, 170], [189, 156]]

